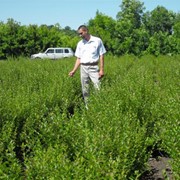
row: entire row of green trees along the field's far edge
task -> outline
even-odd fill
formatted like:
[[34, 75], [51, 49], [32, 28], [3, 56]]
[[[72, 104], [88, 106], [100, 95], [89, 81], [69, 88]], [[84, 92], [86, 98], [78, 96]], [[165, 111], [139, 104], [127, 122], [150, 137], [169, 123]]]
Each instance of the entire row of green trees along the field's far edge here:
[[[123, 0], [116, 19], [99, 11], [86, 24], [95, 36], [102, 38], [109, 54], [180, 54], [180, 13], [157, 6], [145, 11], [139, 0]], [[79, 37], [69, 26], [59, 23], [28, 26], [10, 18], [0, 22], [0, 59], [28, 56], [48, 47], [71, 47]]]

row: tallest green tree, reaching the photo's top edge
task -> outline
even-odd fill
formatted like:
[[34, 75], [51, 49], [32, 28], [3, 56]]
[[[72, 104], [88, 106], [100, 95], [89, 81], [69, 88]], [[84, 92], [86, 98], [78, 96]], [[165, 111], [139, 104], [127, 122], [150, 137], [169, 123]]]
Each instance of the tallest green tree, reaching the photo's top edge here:
[[[144, 4], [138, 0], [123, 0], [121, 11], [117, 14], [115, 27], [115, 49], [116, 54], [140, 54], [145, 49], [144, 42], [147, 34], [141, 28], [141, 18]], [[143, 37], [144, 36], [144, 37]], [[140, 42], [142, 40], [142, 42]]]

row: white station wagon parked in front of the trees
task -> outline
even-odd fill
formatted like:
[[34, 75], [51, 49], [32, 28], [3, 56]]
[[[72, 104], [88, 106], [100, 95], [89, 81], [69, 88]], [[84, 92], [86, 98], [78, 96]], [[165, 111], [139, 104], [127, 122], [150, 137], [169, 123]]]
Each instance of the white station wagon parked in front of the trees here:
[[61, 59], [74, 56], [71, 48], [48, 48], [44, 53], [31, 55], [31, 59]]

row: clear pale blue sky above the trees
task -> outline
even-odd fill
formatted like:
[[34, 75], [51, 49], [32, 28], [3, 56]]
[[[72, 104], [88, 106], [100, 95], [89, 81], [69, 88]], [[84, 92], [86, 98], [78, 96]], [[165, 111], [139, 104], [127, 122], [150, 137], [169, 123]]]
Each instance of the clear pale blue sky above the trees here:
[[[180, 0], [140, 0], [145, 11], [152, 11], [158, 5], [175, 13], [180, 13]], [[87, 24], [96, 12], [116, 19], [121, 11], [122, 0], [0, 0], [0, 21], [6, 23], [13, 18], [21, 25], [69, 26], [76, 30]]]

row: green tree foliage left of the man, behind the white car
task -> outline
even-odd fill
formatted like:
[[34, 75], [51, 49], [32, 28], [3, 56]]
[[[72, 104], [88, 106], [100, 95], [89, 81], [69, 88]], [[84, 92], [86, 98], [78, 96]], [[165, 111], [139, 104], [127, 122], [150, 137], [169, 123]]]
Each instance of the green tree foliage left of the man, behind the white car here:
[[[64, 30], [66, 32], [66, 30]], [[26, 56], [45, 51], [49, 47], [71, 47], [75, 50], [77, 37], [64, 33], [58, 24], [21, 26], [13, 19], [0, 23], [0, 59]], [[70, 30], [69, 30], [70, 31]], [[74, 31], [72, 31], [73, 34]], [[71, 41], [72, 40], [72, 41]]]

